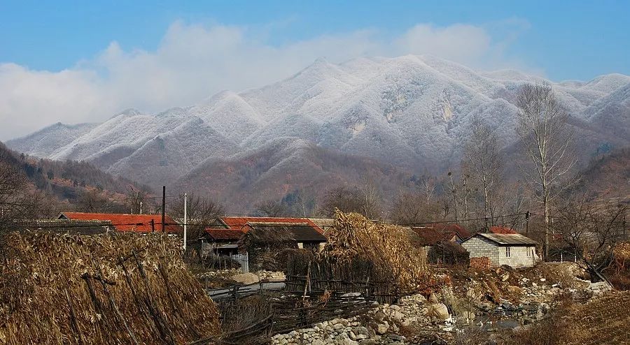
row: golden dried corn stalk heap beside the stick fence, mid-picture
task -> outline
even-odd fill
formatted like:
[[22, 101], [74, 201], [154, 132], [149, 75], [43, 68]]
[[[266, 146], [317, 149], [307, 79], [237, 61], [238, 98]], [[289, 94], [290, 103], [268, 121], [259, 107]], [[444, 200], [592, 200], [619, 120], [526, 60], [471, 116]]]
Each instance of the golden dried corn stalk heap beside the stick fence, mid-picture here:
[[329, 260], [370, 263], [377, 275], [388, 277], [402, 294], [435, 284], [426, 265], [426, 252], [409, 244], [405, 228], [374, 223], [356, 213], [337, 211], [335, 218], [322, 253]]

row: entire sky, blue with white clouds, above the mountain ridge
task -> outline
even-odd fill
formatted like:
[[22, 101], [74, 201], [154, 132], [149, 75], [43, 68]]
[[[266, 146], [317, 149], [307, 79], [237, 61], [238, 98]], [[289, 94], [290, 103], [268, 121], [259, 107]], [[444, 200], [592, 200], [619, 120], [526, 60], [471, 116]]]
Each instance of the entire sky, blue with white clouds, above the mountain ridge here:
[[630, 75], [630, 1], [0, 0], [0, 140], [158, 112], [324, 57], [433, 54], [554, 81]]

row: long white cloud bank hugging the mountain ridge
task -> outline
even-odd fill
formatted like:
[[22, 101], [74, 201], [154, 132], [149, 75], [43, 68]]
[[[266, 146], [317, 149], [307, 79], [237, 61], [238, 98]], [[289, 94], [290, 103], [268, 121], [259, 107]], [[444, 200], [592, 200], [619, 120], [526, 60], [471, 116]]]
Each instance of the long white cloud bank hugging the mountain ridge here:
[[510, 64], [502, 42], [483, 27], [418, 24], [393, 40], [377, 30], [318, 36], [281, 46], [247, 27], [175, 22], [157, 50], [121, 49], [113, 42], [94, 59], [64, 71], [0, 64], [0, 139], [54, 122], [99, 122], [125, 108], [156, 112], [191, 105], [222, 89], [260, 87], [286, 78], [318, 57], [433, 54], [468, 66]]

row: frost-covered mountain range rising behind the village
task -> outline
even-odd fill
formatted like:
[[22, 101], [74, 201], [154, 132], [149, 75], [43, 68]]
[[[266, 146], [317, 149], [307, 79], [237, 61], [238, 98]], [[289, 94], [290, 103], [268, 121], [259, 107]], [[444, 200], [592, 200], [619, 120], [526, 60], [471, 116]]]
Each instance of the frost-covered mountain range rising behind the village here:
[[32, 156], [90, 161], [151, 186], [212, 193], [246, 210], [263, 194], [321, 191], [370, 169], [384, 181], [392, 181], [389, 174], [443, 172], [460, 161], [475, 114], [514, 152], [514, 101], [526, 82], [554, 87], [577, 129], [582, 161], [630, 145], [627, 75], [550, 82], [412, 55], [343, 64], [318, 59], [259, 89], [222, 91], [152, 115], [125, 110], [102, 124], [55, 124], [7, 145]]

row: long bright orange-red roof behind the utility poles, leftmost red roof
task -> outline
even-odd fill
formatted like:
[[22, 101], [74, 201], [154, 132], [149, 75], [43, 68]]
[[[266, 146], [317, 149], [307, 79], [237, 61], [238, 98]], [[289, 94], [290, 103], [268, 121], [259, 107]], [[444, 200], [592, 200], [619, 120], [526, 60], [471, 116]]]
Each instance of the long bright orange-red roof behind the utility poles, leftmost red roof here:
[[[83, 221], [111, 221], [117, 231], [135, 231], [137, 233], [151, 233], [151, 220], [153, 219], [155, 231], [162, 231], [161, 214], [62, 212], [58, 218]], [[168, 215], [165, 216], [165, 223], [165, 231], [167, 233], [182, 232], [181, 226]]]

